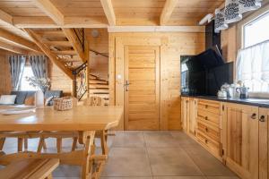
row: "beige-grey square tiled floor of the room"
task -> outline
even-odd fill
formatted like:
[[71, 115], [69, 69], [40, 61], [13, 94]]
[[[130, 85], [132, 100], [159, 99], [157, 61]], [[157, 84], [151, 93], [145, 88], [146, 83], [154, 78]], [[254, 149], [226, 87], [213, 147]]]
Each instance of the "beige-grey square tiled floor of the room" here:
[[[55, 141], [47, 143], [48, 150], [55, 151]], [[71, 141], [65, 140], [64, 149], [70, 145]], [[37, 141], [31, 140], [30, 149], [36, 146]], [[108, 146], [102, 179], [239, 179], [183, 132], [117, 132], [108, 138]], [[9, 139], [4, 151], [15, 150], [16, 142]], [[80, 167], [59, 166], [53, 175], [77, 179]]]

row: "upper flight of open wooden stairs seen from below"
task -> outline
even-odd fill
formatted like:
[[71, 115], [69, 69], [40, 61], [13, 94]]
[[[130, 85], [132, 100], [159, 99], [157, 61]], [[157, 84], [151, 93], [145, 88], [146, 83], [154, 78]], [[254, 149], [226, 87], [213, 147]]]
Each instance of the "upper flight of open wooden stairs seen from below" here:
[[88, 59], [89, 52], [85, 49], [83, 29], [26, 29], [26, 31], [58, 67], [65, 73], [69, 71], [68, 76]]

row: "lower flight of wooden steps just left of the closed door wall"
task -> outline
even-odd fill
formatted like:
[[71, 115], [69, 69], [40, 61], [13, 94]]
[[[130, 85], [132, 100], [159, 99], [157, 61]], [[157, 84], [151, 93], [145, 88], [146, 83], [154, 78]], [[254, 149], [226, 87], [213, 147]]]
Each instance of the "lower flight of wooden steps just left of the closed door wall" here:
[[89, 75], [89, 95], [104, 98], [105, 103], [109, 103], [108, 81], [101, 80], [98, 76]]

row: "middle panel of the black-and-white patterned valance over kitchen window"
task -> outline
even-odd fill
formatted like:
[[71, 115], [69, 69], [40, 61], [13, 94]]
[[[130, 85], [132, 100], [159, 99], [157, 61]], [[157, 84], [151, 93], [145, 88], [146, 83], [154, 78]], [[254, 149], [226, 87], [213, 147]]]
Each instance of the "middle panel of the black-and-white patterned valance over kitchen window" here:
[[239, 0], [226, 0], [225, 2], [225, 23], [240, 21], [242, 14], [239, 13]]

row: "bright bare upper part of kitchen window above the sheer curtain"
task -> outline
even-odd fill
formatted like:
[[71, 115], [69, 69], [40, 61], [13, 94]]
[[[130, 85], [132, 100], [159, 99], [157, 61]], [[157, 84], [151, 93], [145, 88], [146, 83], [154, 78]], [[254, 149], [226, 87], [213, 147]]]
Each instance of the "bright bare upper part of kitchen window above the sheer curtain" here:
[[254, 46], [269, 39], [269, 13], [244, 26], [244, 47]]

